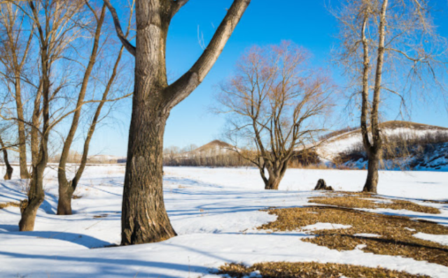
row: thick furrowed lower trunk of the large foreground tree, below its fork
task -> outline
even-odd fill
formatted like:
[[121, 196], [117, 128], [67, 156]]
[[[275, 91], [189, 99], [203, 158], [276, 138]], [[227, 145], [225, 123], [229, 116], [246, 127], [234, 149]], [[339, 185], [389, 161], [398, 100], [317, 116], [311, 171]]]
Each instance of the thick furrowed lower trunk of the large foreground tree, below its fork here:
[[132, 113], [122, 210], [122, 245], [159, 242], [176, 235], [162, 191], [163, 134], [168, 115], [136, 107]]

